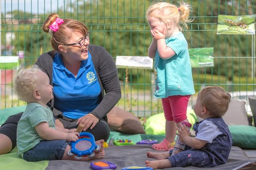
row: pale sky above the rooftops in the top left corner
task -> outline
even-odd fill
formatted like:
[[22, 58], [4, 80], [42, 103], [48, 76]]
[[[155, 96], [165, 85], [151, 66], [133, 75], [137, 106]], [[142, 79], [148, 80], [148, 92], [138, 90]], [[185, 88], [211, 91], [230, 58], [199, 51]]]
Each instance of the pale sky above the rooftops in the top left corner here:
[[7, 13], [13, 10], [21, 10], [27, 13], [44, 13], [57, 11], [58, 6], [73, 0], [0, 0], [1, 12]]

